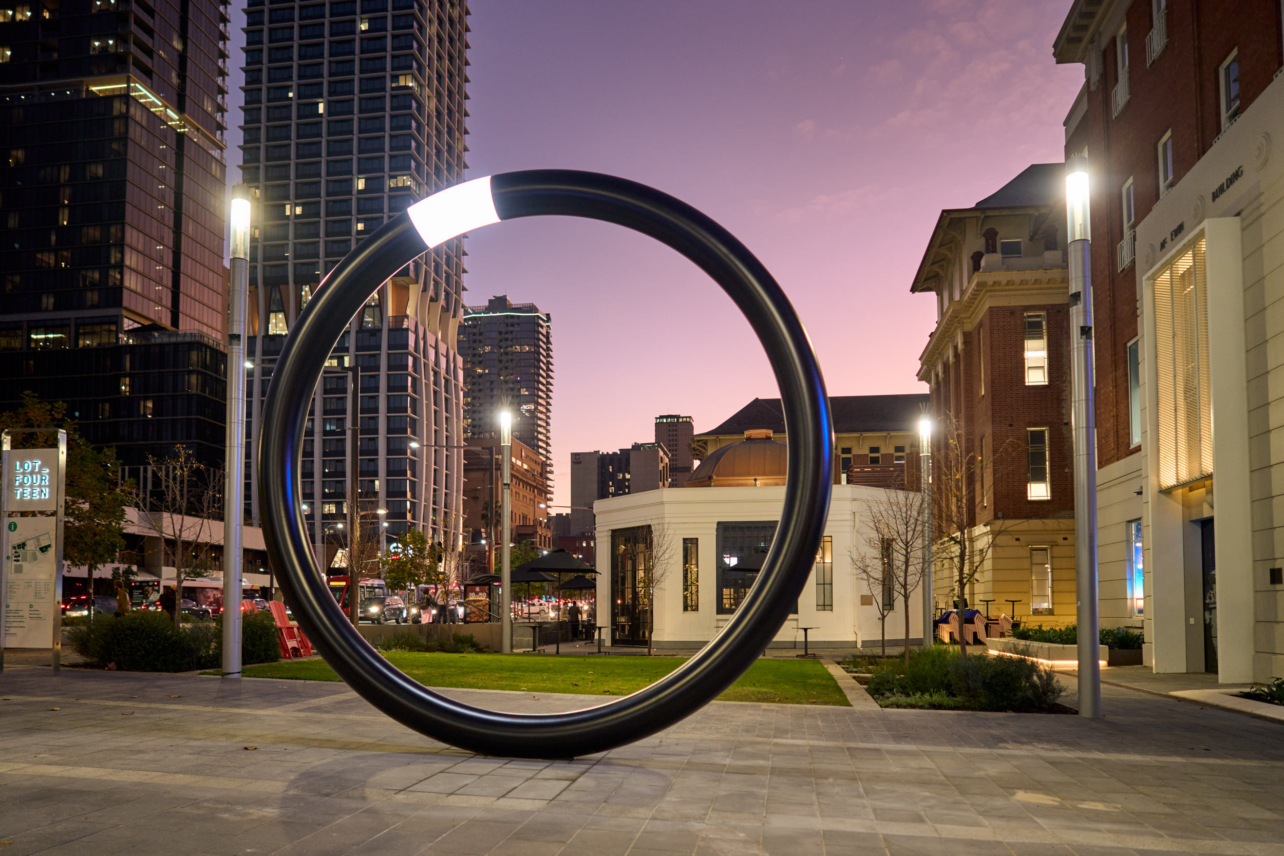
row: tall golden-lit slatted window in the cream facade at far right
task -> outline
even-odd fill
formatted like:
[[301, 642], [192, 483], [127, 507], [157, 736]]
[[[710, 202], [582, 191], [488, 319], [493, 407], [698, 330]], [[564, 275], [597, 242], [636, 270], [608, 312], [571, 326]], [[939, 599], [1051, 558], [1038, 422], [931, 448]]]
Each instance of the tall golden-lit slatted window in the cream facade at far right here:
[[1154, 388], [1159, 488], [1212, 474], [1204, 240], [1154, 280]]

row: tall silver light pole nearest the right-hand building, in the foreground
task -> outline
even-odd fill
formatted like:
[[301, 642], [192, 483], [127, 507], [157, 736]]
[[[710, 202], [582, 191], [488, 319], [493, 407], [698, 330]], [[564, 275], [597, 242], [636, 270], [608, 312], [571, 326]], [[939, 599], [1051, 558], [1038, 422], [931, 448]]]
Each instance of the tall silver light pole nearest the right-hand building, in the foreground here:
[[1093, 411], [1093, 277], [1088, 163], [1066, 164], [1070, 228], [1071, 430], [1075, 448], [1075, 595], [1079, 715], [1102, 715], [1097, 580], [1097, 421]]

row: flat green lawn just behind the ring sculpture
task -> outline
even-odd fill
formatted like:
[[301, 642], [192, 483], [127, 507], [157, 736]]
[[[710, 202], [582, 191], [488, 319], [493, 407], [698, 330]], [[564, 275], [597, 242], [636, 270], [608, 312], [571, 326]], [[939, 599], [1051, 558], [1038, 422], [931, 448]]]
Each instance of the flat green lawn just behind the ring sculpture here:
[[[678, 657], [547, 657], [406, 651], [384, 656], [392, 665], [428, 687], [583, 696], [628, 696], [659, 680], [682, 662]], [[324, 660], [261, 663], [247, 666], [244, 674], [247, 678], [339, 680]], [[759, 660], [718, 698], [724, 702], [849, 705], [838, 684], [815, 660]]]

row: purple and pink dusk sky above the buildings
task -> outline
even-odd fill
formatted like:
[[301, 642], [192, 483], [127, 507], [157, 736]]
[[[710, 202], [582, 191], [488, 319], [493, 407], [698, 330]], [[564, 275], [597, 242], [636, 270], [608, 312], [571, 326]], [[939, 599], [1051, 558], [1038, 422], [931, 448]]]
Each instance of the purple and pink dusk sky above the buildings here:
[[[772, 271], [833, 395], [912, 393], [909, 294], [941, 208], [1062, 159], [1082, 82], [1066, 0], [473, 0], [470, 177], [615, 173], [693, 204]], [[562, 218], [473, 234], [466, 299], [552, 313], [555, 502], [571, 452], [706, 430], [778, 395], [720, 289], [650, 239]]]

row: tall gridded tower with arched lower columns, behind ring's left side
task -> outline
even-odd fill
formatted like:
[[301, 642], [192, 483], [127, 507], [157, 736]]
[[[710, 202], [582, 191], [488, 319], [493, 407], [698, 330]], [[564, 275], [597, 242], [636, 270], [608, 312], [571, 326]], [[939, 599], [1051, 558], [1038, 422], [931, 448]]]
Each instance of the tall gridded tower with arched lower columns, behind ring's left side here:
[[[363, 236], [464, 178], [467, 32], [467, 5], [455, 0], [248, 4], [241, 171], [258, 201], [247, 345], [256, 521], [254, 440], [290, 326]], [[352, 479], [361, 511], [386, 509], [390, 535], [416, 527], [462, 547], [462, 257], [453, 239], [407, 264], [334, 347], [303, 447], [318, 554], [347, 517]], [[357, 413], [351, 367], [361, 371]], [[348, 472], [352, 420], [357, 472]]]

